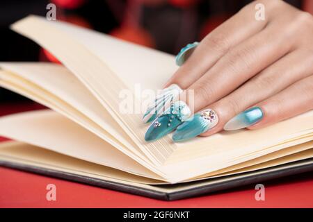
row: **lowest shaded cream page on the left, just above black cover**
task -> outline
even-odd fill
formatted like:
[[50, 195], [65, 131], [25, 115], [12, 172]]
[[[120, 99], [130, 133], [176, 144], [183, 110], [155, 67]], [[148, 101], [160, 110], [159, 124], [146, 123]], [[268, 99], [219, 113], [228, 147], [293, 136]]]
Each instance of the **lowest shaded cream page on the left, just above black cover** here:
[[33, 167], [54, 169], [65, 173], [74, 173], [79, 176], [87, 176], [102, 180], [122, 180], [145, 185], [159, 185], [166, 183], [161, 180], [136, 176], [132, 173], [127, 173], [111, 167], [105, 167], [101, 164], [79, 160], [45, 148], [16, 141], [2, 142], [0, 144], [0, 160], [26, 164]]

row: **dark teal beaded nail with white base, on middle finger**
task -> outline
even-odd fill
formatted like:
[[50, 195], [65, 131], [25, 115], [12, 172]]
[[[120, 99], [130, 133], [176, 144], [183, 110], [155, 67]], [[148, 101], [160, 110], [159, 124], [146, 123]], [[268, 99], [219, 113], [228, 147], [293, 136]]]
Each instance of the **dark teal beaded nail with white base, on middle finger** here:
[[145, 141], [152, 141], [167, 135], [188, 119], [190, 115], [191, 110], [184, 101], [172, 102], [170, 108], [157, 117], [147, 129]]

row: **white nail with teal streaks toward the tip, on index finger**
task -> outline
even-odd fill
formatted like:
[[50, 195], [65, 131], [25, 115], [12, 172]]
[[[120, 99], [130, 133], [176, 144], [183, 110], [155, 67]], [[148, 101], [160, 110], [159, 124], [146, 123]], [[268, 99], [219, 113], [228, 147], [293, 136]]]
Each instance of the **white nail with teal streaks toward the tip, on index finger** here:
[[143, 122], [149, 123], [154, 121], [181, 92], [182, 89], [176, 84], [163, 89], [161, 94], [154, 99], [154, 102], [148, 106], [147, 111], [143, 115]]

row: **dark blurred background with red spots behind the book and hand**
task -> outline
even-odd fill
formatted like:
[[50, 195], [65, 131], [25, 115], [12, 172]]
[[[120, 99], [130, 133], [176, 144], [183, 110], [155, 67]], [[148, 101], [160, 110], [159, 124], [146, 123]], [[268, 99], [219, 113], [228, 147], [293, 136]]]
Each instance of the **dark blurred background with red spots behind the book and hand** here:
[[[248, 0], [1, 0], [0, 61], [58, 62], [48, 51], [8, 28], [10, 24], [29, 14], [45, 16], [48, 3], [56, 5], [58, 20], [176, 54], [189, 42], [202, 40], [216, 26], [249, 2]], [[287, 2], [313, 14], [312, 0]], [[10, 103], [10, 108], [7, 103]], [[21, 108], [32, 110], [42, 107], [0, 87], [0, 115]]]

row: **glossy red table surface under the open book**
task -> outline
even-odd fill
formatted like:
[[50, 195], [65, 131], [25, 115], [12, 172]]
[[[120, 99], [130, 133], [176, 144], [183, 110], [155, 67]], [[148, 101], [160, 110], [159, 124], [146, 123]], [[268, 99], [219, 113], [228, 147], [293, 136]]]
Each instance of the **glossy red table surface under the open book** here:
[[[0, 116], [40, 108], [0, 104]], [[56, 201], [46, 199], [48, 184], [56, 185]], [[264, 201], [255, 200], [255, 185], [250, 185], [167, 202], [0, 167], [0, 207], [313, 207], [313, 173], [263, 184]]]

